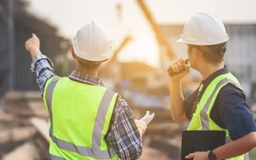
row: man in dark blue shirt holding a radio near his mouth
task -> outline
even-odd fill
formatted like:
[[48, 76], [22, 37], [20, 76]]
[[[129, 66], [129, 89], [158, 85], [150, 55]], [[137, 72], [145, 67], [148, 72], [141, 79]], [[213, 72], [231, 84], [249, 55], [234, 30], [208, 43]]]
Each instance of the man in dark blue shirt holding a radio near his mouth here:
[[193, 15], [177, 40], [188, 45], [190, 66], [200, 72], [203, 81], [184, 99], [180, 79], [189, 73], [190, 67], [183, 58], [170, 63], [169, 67], [178, 73], [171, 77], [173, 120], [190, 120], [188, 130], [225, 131], [227, 135], [225, 145], [207, 152], [191, 153], [187, 159], [247, 160], [248, 152], [256, 146], [253, 114], [246, 104], [243, 89], [223, 61], [227, 41], [223, 22], [211, 13]]

